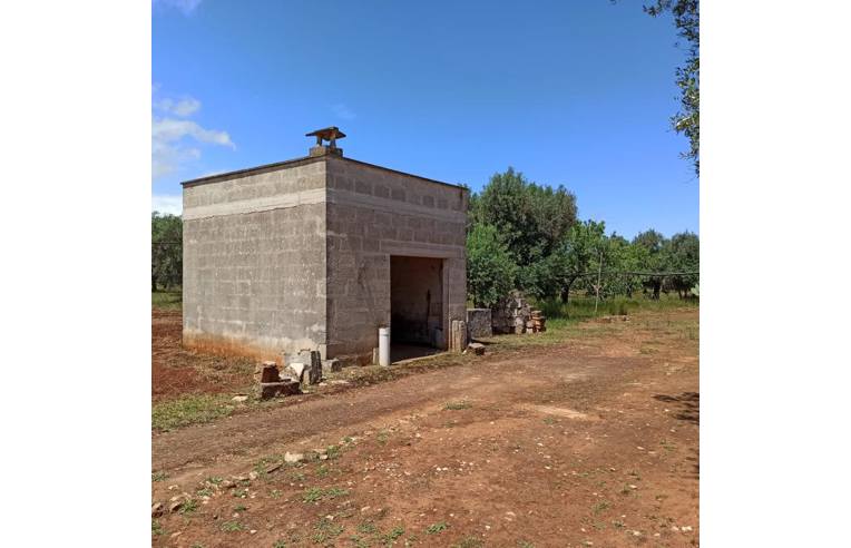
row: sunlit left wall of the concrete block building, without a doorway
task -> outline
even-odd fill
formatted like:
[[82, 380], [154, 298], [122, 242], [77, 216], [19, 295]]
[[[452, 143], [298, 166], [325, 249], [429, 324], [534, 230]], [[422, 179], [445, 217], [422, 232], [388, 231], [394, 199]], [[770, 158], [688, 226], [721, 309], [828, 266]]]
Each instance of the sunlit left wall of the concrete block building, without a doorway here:
[[325, 163], [184, 187], [184, 344], [258, 359], [326, 343]]

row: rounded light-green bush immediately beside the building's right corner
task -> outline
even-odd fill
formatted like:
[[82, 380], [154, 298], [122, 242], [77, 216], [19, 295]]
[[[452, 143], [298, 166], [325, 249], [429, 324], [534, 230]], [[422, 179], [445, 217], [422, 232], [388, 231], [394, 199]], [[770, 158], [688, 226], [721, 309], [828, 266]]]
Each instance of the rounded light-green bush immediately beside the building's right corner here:
[[467, 291], [476, 306], [493, 306], [515, 286], [517, 265], [493, 225], [475, 224], [467, 236]]

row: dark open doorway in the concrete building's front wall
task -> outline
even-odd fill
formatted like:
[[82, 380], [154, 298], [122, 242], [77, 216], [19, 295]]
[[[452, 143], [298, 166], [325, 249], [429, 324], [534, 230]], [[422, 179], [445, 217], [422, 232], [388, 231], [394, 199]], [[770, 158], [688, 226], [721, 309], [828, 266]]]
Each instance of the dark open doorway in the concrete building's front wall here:
[[391, 362], [442, 351], [443, 315], [443, 260], [391, 256]]

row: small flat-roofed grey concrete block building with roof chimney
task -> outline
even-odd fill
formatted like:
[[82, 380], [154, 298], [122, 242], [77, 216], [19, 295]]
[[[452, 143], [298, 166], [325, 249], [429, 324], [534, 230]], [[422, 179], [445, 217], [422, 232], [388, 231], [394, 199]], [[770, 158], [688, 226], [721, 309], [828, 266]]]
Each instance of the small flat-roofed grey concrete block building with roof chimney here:
[[468, 190], [346, 158], [338, 128], [309, 135], [306, 157], [183, 183], [184, 345], [368, 363], [390, 326], [393, 344], [447, 349]]

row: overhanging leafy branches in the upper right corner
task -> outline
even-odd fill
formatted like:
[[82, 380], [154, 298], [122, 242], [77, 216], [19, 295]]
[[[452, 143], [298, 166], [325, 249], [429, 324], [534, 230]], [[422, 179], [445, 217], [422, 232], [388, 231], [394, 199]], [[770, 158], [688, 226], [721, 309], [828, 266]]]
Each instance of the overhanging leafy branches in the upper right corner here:
[[681, 110], [671, 118], [678, 134], [688, 138], [691, 148], [682, 156], [694, 162], [701, 172], [701, 2], [700, 0], [655, 0], [644, 11], [653, 17], [671, 12], [677, 35], [687, 42], [687, 57], [676, 70]]

